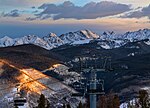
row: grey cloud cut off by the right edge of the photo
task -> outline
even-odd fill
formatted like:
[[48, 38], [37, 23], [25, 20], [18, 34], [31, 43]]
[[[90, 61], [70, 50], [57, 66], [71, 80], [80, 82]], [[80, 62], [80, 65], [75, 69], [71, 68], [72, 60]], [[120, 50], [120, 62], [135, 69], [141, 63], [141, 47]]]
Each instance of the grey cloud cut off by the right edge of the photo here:
[[150, 19], [150, 5], [148, 7], [144, 7], [140, 11], [131, 12], [129, 14], [124, 15], [125, 18], [142, 18], [148, 17]]

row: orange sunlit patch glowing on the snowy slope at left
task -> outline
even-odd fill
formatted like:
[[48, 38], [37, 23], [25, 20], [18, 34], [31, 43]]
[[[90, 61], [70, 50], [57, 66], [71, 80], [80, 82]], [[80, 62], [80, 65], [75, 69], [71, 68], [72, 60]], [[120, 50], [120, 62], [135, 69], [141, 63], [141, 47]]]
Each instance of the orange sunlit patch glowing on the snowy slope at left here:
[[32, 68], [19, 69], [18, 67], [8, 63], [5, 60], [0, 59], [0, 61], [0, 65], [7, 64], [10, 67], [15, 68], [22, 73], [21, 75], [16, 77], [16, 79], [18, 79], [20, 82], [19, 90], [25, 89], [27, 91], [32, 91], [41, 94], [41, 92], [46, 89], [46, 86], [38, 81], [38, 79], [40, 78], [47, 77], [46, 75]]

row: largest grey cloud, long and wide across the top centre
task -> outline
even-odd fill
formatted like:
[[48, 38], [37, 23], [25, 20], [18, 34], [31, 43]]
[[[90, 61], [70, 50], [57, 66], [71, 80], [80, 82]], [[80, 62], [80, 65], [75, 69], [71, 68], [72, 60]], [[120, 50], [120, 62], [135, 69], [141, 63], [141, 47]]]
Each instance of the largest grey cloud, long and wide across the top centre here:
[[35, 14], [40, 19], [53, 18], [58, 20], [61, 18], [74, 18], [74, 19], [95, 19], [99, 17], [106, 17], [117, 15], [130, 10], [129, 5], [117, 4], [114, 2], [90, 2], [84, 6], [76, 6], [70, 1], [63, 4], [43, 4], [39, 7], [43, 11]]

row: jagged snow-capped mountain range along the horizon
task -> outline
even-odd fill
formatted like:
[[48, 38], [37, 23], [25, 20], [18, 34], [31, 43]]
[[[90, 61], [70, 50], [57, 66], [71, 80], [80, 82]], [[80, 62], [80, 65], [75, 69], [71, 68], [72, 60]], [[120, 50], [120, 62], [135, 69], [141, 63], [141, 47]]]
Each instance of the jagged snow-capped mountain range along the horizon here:
[[[103, 34], [98, 35], [90, 30], [80, 30], [62, 34], [61, 36], [57, 36], [55, 33], [50, 33], [42, 38], [35, 35], [28, 35], [15, 39], [5, 36], [0, 39], [0, 47], [35, 44], [50, 50], [64, 44], [77, 45], [96, 40], [99, 41], [98, 44], [102, 48], [112, 49], [123, 46], [127, 42], [134, 42], [143, 39], [150, 39], [150, 29], [126, 32], [122, 35], [118, 35], [115, 32], [104, 32]], [[150, 45], [150, 42], [146, 42], [146, 44]]]

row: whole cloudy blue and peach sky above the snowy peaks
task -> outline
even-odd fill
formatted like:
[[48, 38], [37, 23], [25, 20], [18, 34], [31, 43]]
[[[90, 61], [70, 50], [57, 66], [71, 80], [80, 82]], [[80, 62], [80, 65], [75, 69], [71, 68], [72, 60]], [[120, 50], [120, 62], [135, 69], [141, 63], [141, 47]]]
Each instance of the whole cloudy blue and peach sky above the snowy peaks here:
[[150, 28], [150, 0], [0, 0], [0, 37]]

